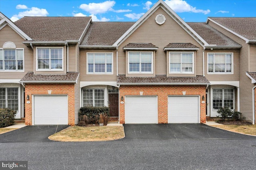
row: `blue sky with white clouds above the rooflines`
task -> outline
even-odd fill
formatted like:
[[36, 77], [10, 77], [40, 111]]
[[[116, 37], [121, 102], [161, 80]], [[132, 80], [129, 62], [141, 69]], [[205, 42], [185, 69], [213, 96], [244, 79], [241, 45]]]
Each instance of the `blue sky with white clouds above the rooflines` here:
[[[0, 11], [23, 16], [92, 16], [93, 21], [137, 21], [158, 0], [0, 0]], [[256, 17], [256, 0], [164, 0], [186, 22], [207, 17]]]

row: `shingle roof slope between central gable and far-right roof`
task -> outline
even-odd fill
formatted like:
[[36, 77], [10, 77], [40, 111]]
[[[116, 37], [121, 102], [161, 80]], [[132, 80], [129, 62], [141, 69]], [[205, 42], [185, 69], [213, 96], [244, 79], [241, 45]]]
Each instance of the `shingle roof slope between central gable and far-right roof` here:
[[228, 38], [220, 31], [214, 29], [204, 22], [187, 22], [187, 24], [200, 35], [208, 44], [216, 44], [218, 46], [237, 46], [240, 45]]

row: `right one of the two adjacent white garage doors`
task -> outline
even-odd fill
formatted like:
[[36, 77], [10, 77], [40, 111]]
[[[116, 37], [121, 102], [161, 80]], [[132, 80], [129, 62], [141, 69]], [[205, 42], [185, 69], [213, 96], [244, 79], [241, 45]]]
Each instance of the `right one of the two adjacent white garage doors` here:
[[198, 96], [169, 96], [168, 123], [200, 123]]

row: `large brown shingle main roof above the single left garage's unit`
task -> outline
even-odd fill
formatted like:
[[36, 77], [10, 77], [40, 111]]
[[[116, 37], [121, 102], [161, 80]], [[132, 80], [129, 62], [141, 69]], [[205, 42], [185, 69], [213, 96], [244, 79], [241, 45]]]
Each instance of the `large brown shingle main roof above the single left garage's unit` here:
[[78, 40], [91, 17], [23, 17], [14, 22], [34, 41]]

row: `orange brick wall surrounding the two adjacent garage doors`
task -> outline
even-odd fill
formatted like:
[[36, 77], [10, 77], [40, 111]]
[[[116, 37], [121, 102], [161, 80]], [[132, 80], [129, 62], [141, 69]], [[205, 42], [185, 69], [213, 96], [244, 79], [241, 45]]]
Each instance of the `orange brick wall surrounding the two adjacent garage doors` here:
[[[158, 123], [168, 123], [168, 96], [169, 95], [200, 95], [200, 123], [206, 122], [206, 103], [202, 104], [202, 96], [206, 97], [205, 86], [120, 86], [119, 102], [123, 96], [158, 96]], [[125, 100], [125, 98], [124, 98]], [[123, 101], [125, 102], [125, 101]], [[120, 123], [125, 123], [125, 104], [120, 104]]]

